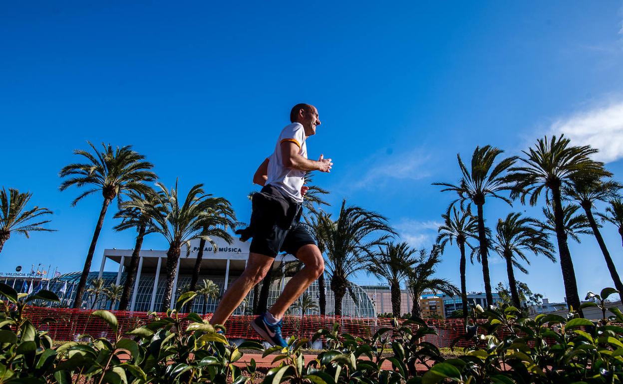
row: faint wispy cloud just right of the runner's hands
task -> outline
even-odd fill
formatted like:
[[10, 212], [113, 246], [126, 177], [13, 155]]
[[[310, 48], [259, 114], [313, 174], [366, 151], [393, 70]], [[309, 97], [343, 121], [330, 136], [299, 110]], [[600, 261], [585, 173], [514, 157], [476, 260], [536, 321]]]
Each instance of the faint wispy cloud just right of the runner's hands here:
[[392, 180], [418, 180], [430, 176], [430, 156], [422, 151], [406, 155], [393, 155], [389, 159], [376, 161], [358, 182], [356, 188], [378, 187]]

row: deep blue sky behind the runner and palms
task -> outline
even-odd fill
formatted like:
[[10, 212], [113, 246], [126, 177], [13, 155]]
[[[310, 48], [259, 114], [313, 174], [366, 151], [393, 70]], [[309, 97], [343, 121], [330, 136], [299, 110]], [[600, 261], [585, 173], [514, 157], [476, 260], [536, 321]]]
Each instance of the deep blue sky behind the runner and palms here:
[[[456, 154], [477, 145], [519, 154], [545, 134], [566, 133], [623, 167], [623, 3], [602, 2], [39, 2], [0, 15], [0, 184], [30, 190], [54, 211], [54, 233], [14, 235], [3, 269], [44, 263], [82, 269], [101, 198], [77, 207], [59, 192], [61, 167], [86, 141], [131, 144], [166, 185], [204, 183], [241, 220], [252, 174], [298, 102], [322, 125], [310, 157], [335, 163], [315, 182], [390, 218], [402, 238], [429, 247], [454, 199], [430, 185], [458, 180]], [[511, 210], [485, 204], [488, 223]], [[132, 248], [108, 212], [95, 251]], [[602, 230], [623, 273], [616, 228]], [[611, 286], [596, 241], [571, 245], [579, 293]], [[145, 248], [164, 249], [158, 236]], [[459, 283], [458, 252], [439, 275]], [[492, 256], [492, 283], [506, 281]], [[558, 264], [533, 259], [518, 276], [563, 299]], [[95, 267], [94, 267], [95, 268]], [[112, 265], [110, 266], [112, 268]], [[373, 278], [360, 276], [360, 281]], [[468, 290], [482, 289], [479, 265]]]

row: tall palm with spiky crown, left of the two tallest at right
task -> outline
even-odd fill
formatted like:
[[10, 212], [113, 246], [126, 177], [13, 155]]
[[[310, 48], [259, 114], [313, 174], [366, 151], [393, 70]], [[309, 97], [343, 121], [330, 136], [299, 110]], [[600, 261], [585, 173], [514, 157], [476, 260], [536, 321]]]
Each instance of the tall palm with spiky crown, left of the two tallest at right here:
[[[459, 167], [461, 169], [462, 177], [458, 184], [449, 184], [444, 182], [433, 183], [433, 185], [441, 185], [445, 187], [442, 192], [450, 190], [456, 192], [459, 197], [454, 200], [450, 206], [456, 202], [460, 202], [463, 207], [465, 202], [476, 205], [478, 216], [478, 246], [480, 249], [480, 260], [482, 263], [482, 275], [485, 281], [485, 293], [487, 294], [487, 303], [490, 305], [493, 303], [493, 292], [491, 290], [491, 278], [489, 276], [489, 263], [487, 260], [487, 230], [485, 229], [485, 219], [483, 216], [483, 205], [485, 205], [485, 199], [487, 197], [496, 197], [501, 199], [508, 205], [512, 205], [511, 200], [499, 194], [505, 190], [511, 190], [511, 184], [508, 181], [508, 177], [503, 175], [510, 166], [512, 166], [516, 157], [508, 157], [498, 162], [497, 166], [493, 167], [495, 158], [502, 154], [502, 149], [493, 148], [492, 146], [479, 146], [473, 151], [472, 164], [470, 169], [461, 160], [460, 154], [457, 154], [459, 161]], [[493, 169], [492, 169], [493, 167]]]

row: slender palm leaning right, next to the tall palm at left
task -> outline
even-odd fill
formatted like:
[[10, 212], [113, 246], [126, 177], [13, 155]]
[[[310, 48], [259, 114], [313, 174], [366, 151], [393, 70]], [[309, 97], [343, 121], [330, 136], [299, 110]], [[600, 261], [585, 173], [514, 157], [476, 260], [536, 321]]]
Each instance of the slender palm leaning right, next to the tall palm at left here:
[[115, 214], [115, 218], [121, 218], [121, 223], [115, 225], [116, 231], [122, 231], [130, 228], [136, 230], [136, 241], [134, 250], [132, 251], [132, 257], [130, 258], [130, 266], [123, 284], [123, 294], [121, 294], [121, 300], [119, 302], [119, 311], [126, 311], [128, 304], [130, 303], [130, 294], [132, 292], [134, 281], [136, 279], [136, 272], [138, 271], [138, 259], [141, 253], [141, 247], [143, 246], [143, 238], [145, 235], [152, 233], [153, 220], [149, 213], [145, 209], [135, 208], [141, 207], [154, 207], [158, 204], [158, 195], [153, 189], [145, 190], [142, 194], [130, 193], [129, 202], [122, 202], [120, 204], [120, 210]]

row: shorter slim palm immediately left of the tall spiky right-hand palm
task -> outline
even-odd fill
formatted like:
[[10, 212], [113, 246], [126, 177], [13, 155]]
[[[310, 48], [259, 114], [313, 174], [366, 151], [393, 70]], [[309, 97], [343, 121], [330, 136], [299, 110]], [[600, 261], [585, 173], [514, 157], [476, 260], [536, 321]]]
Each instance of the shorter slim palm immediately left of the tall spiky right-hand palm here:
[[467, 284], [465, 283], [465, 266], [467, 265], [467, 259], [465, 257], [465, 244], [470, 246], [467, 242], [470, 238], [478, 238], [478, 218], [472, 215], [470, 206], [464, 210], [457, 210], [457, 207], [452, 207], [452, 215], [450, 211], [441, 215], [444, 219], [444, 223], [439, 227], [439, 235], [435, 240], [440, 247], [441, 253], [445, 250], [445, 245], [448, 241], [452, 244], [452, 241], [456, 241], [459, 246], [461, 258], [459, 262], [459, 272], [461, 276], [461, 299], [463, 301], [463, 319], [467, 322]]

